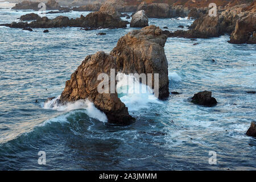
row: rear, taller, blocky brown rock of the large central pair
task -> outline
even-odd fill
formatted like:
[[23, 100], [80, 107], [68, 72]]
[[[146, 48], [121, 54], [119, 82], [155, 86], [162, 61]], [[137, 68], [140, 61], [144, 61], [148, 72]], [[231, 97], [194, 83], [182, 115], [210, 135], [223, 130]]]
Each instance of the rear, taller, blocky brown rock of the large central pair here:
[[[134, 30], [118, 40], [110, 55], [117, 57], [118, 71], [123, 73], [158, 73], [159, 98], [169, 96], [168, 63], [164, 53], [167, 35], [156, 26]], [[152, 76], [154, 88], [154, 76]]]

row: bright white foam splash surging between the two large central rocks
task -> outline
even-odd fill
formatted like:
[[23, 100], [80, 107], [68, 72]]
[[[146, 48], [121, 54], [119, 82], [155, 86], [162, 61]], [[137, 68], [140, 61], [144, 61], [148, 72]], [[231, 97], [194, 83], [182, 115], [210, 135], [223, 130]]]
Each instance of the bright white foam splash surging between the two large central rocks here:
[[139, 82], [134, 76], [117, 73], [117, 93], [129, 111], [150, 107], [150, 104], [162, 104], [154, 96], [149, 86]]

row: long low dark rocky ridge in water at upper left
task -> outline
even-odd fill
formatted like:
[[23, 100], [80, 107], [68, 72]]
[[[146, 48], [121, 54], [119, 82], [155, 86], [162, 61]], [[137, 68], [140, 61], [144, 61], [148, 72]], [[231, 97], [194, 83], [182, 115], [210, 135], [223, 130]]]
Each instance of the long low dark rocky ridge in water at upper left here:
[[[110, 9], [111, 10], [111, 9]], [[47, 17], [38, 18], [31, 23], [27, 22], [13, 22], [10, 24], [1, 24], [11, 28], [59, 28], [59, 27], [82, 27], [97, 29], [97, 28], [124, 28], [127, 21], [121, 20], [117, 17], [117, 14], [113, 14], [114, 11], [96, 11], [88, 14], [87, 16], [80, 16], [80, 18], [69, 19], [67, 16], [57, 16], [54, 19], [48, 19]]]

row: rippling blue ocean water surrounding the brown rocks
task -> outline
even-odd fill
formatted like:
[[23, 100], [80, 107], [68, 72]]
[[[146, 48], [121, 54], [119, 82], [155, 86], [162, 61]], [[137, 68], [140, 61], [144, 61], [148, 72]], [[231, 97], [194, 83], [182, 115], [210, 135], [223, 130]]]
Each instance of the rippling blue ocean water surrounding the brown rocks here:
[[[34, 12], [10, 10], [11, 6], [0, 2], [0, 23]], [[61, 15], [76, 18], [88, 13]], [[192, 21], [149, 20], [171, 31]], [[61, 107], [44, 104], [48, 97], [60, 96], [65, 81], [87, 55], [110, 52], [134, 29], [48, 28], [44, 34], [40, 28], [29, 32], [0, 27], [1, 170], [256, 169], [256, 139], [245, 135], [256, 118], [255, 94], [246, 93], [256, 90], [256, 45], [229, 44], [228, 35], [197, 41], [168, 38], [164, 49], [169, 89], [181, 94], [170, 94], [164, 101], [119, 94], [137, 119], [129, 126], [110, 125], [89, 101]], [[216, 106], [189, 102], [203, 90], [212, 91]], [[38, 164], [39, 151], [46, 152], [46, 165]], [[216, 164], [209, 164], [210, 151], [216, 152]]]

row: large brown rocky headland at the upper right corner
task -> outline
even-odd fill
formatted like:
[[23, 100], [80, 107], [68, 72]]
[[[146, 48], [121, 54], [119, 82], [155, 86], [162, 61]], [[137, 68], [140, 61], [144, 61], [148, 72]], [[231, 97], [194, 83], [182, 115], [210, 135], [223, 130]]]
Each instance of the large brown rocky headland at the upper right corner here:
[[255, 2], [250, 6], [246, 4], [233, 6], [215, 17], [210, 17], [208, 14], [201, 16], [193, 22], [191, 30], [178, 30], [170, 36], [191, 39], [231, 34], [230, 43], [255, 43], [255, 10]]

